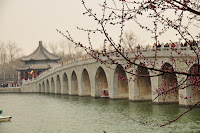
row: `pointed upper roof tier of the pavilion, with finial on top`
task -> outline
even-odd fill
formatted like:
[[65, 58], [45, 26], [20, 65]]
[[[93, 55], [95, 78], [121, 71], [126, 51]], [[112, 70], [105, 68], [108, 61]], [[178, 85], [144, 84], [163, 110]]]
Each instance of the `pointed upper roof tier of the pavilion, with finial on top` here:
[[42, 61], [42, 60], [53, 60], [53, 61], [58, 61], [60, 60], [59, 57], [56, 55], [53, 55], [52, 53], [48, 52], [42, 45], [42, 41], [39, 41], [39, 46], [38, 48], [30, 55], [23, 57], [21, 59], [22, 61]]

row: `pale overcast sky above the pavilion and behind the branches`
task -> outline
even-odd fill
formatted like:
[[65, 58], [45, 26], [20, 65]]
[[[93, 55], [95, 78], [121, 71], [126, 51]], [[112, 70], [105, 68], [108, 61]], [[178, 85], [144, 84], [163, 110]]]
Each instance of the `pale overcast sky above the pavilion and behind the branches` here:
[[[89, 7], [98, 9], [94, 1], [102, 0], [87, 1]], [[15, 41], [27, 55], [37, 48], [40, 40], [46, 43], [64, 40], [56, 29], [69, 30], [76, 40], [87, 40], [86, 35], [76, 30], [77, 26], [95, 27], [91, 18], [83, 16], [84, 11], [81, 0], [0, 0], [0, 41]], [[152, 42], [151, 36], [136, 25], [126, 28], [137, 35], [140, 43]], [[98, 42], [98, 37], [95, 41]]]

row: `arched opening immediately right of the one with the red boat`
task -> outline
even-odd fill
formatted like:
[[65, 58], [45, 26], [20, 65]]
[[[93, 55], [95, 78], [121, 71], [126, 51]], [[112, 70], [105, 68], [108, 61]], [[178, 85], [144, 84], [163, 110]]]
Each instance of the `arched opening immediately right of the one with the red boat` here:
[[114, 72], [113, 90], [115, 98], [128, 98], [129, 88], [126, 72], [121, 65], [117, 65]]

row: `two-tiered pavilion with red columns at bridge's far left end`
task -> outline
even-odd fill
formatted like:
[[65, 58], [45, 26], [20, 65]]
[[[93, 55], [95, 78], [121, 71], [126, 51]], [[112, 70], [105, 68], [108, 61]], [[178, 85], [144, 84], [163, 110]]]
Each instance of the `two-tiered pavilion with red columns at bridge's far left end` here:
[[58, 60], [60, 58], [47, 51], [42, 45], [42, 41], [39, 41], [38, 48], [32, 54], [21, 59], [24, 65], [17, 68], [18, 80], [37, 78], [42, 72], [57, 65]]

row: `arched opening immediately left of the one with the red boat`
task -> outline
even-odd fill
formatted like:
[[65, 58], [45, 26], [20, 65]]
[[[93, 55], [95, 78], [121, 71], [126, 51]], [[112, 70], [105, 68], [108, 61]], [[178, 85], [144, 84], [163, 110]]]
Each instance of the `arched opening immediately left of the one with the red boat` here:
[[86, 69], [84, 69], [82, 72], [81, 89], [82, 89], [82, 95], [85, 95], [85, 96], [91, 95], [90, 78], [89, 78], [88, 71]]

